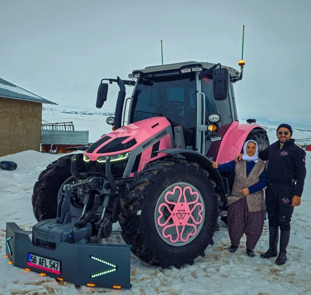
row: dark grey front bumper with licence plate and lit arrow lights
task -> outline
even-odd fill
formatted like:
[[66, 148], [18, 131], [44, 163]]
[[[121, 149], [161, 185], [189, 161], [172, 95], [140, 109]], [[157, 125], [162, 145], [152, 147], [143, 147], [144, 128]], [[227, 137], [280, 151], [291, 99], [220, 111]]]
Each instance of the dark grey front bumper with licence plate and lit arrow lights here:
[[131, 288], [131, 245], [61, 242], [50, 250], [35, 246], [30, 234], [15, 222], [6, 224], [6, 253], [12, 265], [75, 285]]

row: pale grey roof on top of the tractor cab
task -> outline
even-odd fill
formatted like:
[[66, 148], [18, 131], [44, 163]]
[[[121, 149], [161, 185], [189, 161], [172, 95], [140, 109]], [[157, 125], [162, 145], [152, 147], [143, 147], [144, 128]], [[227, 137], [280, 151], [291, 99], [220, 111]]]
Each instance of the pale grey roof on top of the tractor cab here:
[[[179, 70], [181, 68], [187, 68], [187, 67], [203, 67], [203, 69], [207, 70], [214, 65], [215, 63], [210, 63], [210, 62], [195, 62], [195, 61], [177, 62], [177, 63], [170, 63], [166, 65], [145, 67], [144, 69], [141, 69], [141, 70], [134, 70], [133, 73], [137, 73], [137, 72], [154, 73], [154, 72], [162, 72], [162, 71], [174, 71], [174, 70]], [[240, 80], [240, 74], [238, 70], [232, 67], [224, 66], [224, 65], [221, 65], [221, 67], [226, 67], [228, 69], [230, 78], [232, 80]]]

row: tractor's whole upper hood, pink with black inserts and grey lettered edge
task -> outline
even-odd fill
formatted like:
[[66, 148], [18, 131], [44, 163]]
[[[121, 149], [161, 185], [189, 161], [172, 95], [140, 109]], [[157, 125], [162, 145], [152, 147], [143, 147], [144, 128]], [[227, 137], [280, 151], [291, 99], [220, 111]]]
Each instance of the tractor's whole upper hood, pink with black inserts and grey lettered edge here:
[[164, 117], [135, 122], [101, 137], [83, 154], [95, 161], [98, 157], [131, 152], [137, 147], [144, 149], [167, 135], [168, 127], [171, 128], [171, 124]]

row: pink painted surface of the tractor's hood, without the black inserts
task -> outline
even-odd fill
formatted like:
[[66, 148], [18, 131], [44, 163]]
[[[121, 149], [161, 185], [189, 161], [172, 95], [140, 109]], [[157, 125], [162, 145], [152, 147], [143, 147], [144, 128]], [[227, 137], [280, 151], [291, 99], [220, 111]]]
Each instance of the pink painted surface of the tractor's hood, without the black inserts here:
[[[119, 129], [110, 132], [109, 134], [101, 137], [98, 141], [94, 143], [99, 143], [100, 141], [103, 141], [104, 138], [107, 136], [110, 137], [108, 140], [104, 141], [102, 144], [98, 145], [98, 147], [95, 148], [95, 150], [91, 153], [84, 152], [83, 154], [87, 155], [91, 161], [95, 161], [100, 156], [109, 156], [113, 154], [120, 154], [120, 153], [126, 153], [129, 151], [134, 150], [137, 146], [142, 145], [142, 143], [146, 142], [149, 138], [154, 136], [155, 134], [159, 133], [161, 130], [164, 130], [165, 128], [169, 127], [170, 123], [169, 121], [164, 117], [153, 117], [149, 119], [145, 119], [142, 121], [138, 121], [123, 127], [120, 127]], [[125, 144], [133, 139], [136, 140], [136, 144], [132, 147], [122, 150], [122, 151], [114, 151], [111, 153], [98, 153], [98, 151], [105, 145], [108, 145], [111, 141], [115, 140], [119, 137], [129, 136], [127, 139], [122, 141], [122, 144]]]

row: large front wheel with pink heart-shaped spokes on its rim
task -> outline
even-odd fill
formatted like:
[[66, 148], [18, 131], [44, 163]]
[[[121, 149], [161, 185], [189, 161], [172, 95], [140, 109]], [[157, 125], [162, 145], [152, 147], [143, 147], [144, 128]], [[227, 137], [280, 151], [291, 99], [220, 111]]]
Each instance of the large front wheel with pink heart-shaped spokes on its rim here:
[[[182, 190], [177, 188], [175, 191], [177, 186]], [[191, 187], [192, 194], [191, 190], [185, 187]], [[132, 253], [151, 265], [163, 268], [174, 265], [178, 269], [185, 263], [192, 265], [199, 255], [204, 257], [204, 250], [209, 244], [213, 244], [212, 238], [217, 227], [218, 199], [215, 187], [216, 184], [209, 178], [209, 173], [196, 163], [168, 159], [148, 164], [145, 170], [134, 177], [133, 182], [128, 185], [125, 198], [121, 200], [121, 234], [125, 242], [132, 245]], [[167, 194], [169, 199], [165, 199], [164, 195], [168, 191], [172, 193]], [[178, 196], [181, 196], [180, 202], [176, 202]], [[198, 201], [186, 205], [183, 196], [187, 203], [194, 199]], [[167, 208], [166, 200], [171, 202], [171, 212]], [[181, 207], [182, 203], [184, 207]], [[178, 210], [179, 206], [186, 210]], [[159, 208], [163, 213], [160, 214]], [[187, 212], [192, 217], [183, 219], [188, 216]], [[193, 219], [198, 223], [197, 226]], [[170, 222], [170, 227], [164, 220]], [[182, 226], [180, 221], [183, 222]], [[193, 225], [187, 225], [189, 223]], [[187, 236], [183, 235], [182, 228]], [[170, 230], [174, 232], [168, 234]], [[172, 239], [174, 233], [178, 239]]]

